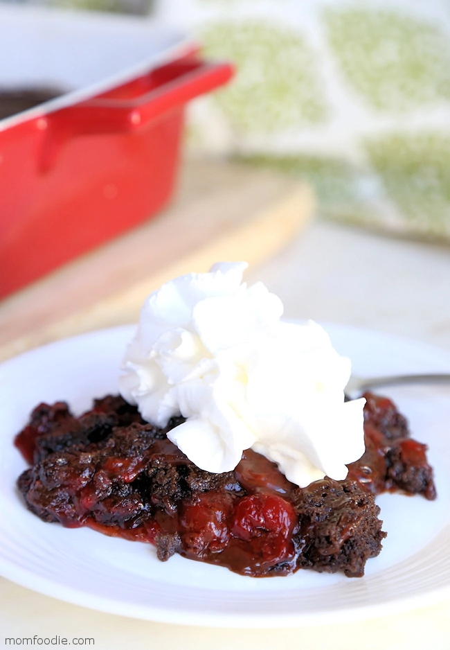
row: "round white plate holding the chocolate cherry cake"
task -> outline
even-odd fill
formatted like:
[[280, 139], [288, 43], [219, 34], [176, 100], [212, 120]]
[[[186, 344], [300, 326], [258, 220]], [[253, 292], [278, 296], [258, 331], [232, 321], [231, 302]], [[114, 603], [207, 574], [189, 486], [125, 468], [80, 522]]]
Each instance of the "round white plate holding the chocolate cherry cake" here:
[[[450, 353], [370, 331], [327, 326], [334, 345], [361, 375], [450, 371]], [[156, 559], [143, 543], [89, 529], [46, 524], [15, 489], [26, 467], [12, 439], [39, 401], [77, 411], [116, 392], [117, 369], [132, 328], [57, 342], [0, 366], [0, 572], [30, 589], [120, 615], [190, 625], [276, 627], [326, 624], [392, 614], [450, 596], [450, 388], [390, 389], [413, 435], [429, 444], [438, 500], [383, 495], [388, 538], [366, 576], [298, 571], [253, 579], [174, 556]], [[387, 391], [386, 391], [387, 392]]]

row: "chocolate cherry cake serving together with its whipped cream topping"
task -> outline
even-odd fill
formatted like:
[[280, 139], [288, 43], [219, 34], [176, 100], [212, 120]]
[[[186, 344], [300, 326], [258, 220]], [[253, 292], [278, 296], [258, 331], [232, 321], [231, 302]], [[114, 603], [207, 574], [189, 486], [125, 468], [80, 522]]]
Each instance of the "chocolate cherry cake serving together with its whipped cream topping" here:
[[345, 400], [350, 361], [321, 327], [283, 322], [243, 263], [145, 302], [120, 394], [73, 415], [40, 404], [18, 480], [46, 522], [82, 525], [251, 576], [363, 575], [386, 536], [375, 496], [435, 498], [426, 446], [387, 398]]

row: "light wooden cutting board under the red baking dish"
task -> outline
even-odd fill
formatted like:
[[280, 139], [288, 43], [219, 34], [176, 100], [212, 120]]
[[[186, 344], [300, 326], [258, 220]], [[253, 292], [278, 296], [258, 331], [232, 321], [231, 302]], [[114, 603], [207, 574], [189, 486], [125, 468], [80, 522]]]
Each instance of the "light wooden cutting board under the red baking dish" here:
[[304, 227], [312, 192], [285, 176], [189, 161], [157, 218], [0, 301], [0, 360], [62, 337], [135, 322], [145, 297], [216, 261], [261, 263]]

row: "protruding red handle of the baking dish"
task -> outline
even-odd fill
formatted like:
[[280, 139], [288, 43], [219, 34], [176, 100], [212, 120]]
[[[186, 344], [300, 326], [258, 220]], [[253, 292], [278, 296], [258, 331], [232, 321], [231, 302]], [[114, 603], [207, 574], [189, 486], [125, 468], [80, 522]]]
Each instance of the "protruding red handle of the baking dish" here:
[[[224, 85], [233, 74], [234, 68], [229, 63], [190, 56], [156, 68], [147, 76], [98, 98], [50, 113], [44, 118], [44, 124], [41, 118], [41, 128], [47, 130], [48, 137], [40, 168], [48, 170], [62, 143], [71, 137], [127, 133], [143, 128], [170, 110]], [[145, 91], [136, 96], [136, 86]]]

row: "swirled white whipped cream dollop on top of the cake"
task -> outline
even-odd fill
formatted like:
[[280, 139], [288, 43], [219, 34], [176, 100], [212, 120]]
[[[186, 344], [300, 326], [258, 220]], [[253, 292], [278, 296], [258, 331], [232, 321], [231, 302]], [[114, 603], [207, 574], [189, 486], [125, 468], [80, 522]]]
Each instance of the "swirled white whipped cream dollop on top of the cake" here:
[[361, 457], [363, 399], [344, 402], [350, 360], [314, 322], [283, 322], [282, 302], [242, 283], [246, 263], [165, 283], [141, 310], [120, 393], [146, 421], [186, 421], [169, 439], [199, 468], [235, 468], [245, 449], [300, 487], [343, 480]]

